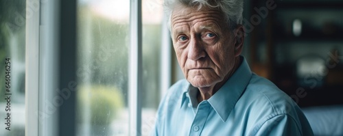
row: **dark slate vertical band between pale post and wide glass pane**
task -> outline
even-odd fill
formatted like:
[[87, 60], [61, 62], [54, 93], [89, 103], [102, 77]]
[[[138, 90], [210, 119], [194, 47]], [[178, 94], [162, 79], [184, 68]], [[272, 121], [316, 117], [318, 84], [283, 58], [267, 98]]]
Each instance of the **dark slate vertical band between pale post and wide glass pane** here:
[[[59, 42], [58, 42], [58, 131], [59, 135], [76, 134], [76, 2], [58, 1]], [[57, 89], [57, 88], [56, 88]], [[64, 97], [63, 93], [68, 93]], [[67, 94], [66, 93], [66, 94]], [[57, 100], [56, 100], [57, 102]]]

